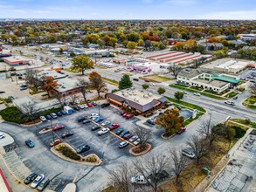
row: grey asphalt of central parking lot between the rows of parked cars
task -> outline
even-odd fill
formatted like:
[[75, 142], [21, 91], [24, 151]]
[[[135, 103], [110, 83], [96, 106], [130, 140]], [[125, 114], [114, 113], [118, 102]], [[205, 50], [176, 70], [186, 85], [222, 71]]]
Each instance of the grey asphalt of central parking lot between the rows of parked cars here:
[[[122, 149], [119, 148], [119, 143], [121, 140], [115, 137], [113, 134], [107, 133], [99, 136], [97, 132], [100, 129], [91, 131], [91, 128], [94, 126], [93, 122], [83, 124], [82, 122], [77, 121], [80, 116], [90, 115], [91, 113], [99, 113], [99, 107], [93, 106], [86, 108], [85, 110], [81, 109], [73, 114], [65, 115], [56, 120], [52, 120], [53, 127], [56, 125], [65, 126], [65, 128], [54, 132], [54, 139], [64, 141], [75, 149], [81, 145], [90, 146], [89, 151], [81, 154], [83, 156], [88, 154], [97, 154], [100, 158], [104, 157], [104, 159], [107, 158], [108, 160], [111, 160], [122, 155], [130, 155], [128, 153], [130, 146]], [[100, 116], [103, 117], [104, 120], [110, 120], [111, 124], [120, 124], [119, 128], [127, 129], [130, 131], [130, 133], [133, 133], [134, 128], [137, 127], [135, 125], [135, 121], [137, 120], [135, 117], [130, 120], [126, 120], [121, 117], [120, 111], [112, 106], [100, 108]], [[111, 124], [107, 127], [110, 127]], [[50, 122], [45, 121], [38, 127], [40, 127], [38, 131], [45, 127], [50, 127]], [[64, 134], [66, 131], [71, 131], [73, 135], [67, 137], [66, 139], [62, 139], [61, 134]], [[45, 143], [45, 146], [50, 148], [50, 143], [53, 141], [52, 131], [46, 132], [45, 134], [38, 134], [38, 137]]]

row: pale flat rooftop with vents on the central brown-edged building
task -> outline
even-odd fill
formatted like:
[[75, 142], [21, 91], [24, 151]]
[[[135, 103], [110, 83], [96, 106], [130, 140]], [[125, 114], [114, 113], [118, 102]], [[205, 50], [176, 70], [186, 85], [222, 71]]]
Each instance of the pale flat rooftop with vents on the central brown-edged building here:
[[139, 105], [147, 105], [149, 102], [151, 102], [153, 99], [161, 99], [163, 96], [157, 95], [154, 93], [147, 92], [145, 90], [138, 90], [138, 89], [125, 89], [121, 90], [119, 92], [115, 92], [114, 94], [125, 98], [132, 100], [133, 102], [139, 104]]

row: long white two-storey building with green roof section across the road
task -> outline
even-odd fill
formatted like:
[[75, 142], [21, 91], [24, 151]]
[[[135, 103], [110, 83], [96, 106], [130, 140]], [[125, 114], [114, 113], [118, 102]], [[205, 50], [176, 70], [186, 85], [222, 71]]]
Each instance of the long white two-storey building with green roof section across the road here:
[[185, 69], [178, 74], [177, 83], [187, 86], [197, 86], [209, 91], [221, 93], [231, 86], [239, 84], [239, 77], [206, 70]]

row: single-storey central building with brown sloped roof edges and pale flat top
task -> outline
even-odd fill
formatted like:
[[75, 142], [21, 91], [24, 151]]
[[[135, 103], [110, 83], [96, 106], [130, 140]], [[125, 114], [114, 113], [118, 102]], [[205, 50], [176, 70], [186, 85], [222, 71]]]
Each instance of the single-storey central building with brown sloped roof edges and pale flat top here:
[[134, 87], [124, 89], [115, 93], [107, 93], [110, 103], [128, 109], [131, 113], [151, 113], [161, 108], [167, 101], [165, 97], [138, 90]]

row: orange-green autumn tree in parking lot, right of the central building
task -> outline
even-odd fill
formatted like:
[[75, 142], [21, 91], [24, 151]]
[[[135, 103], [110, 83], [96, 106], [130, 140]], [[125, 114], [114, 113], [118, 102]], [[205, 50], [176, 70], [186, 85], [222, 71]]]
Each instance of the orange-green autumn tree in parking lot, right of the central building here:
[[156, 128], [164, 128], [165, 135], [170, 136], [183, 127], [183, 122], [184, 118], [180, 116], [178, 109], [168, 109], [156, 119]]

